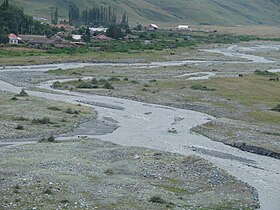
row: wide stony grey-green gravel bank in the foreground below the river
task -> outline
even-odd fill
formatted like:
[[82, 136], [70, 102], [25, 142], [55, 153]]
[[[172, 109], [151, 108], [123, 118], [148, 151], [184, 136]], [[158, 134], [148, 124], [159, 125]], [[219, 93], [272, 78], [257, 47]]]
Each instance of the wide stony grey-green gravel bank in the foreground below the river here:
[[0, 148], [3, 209], [255, 209], [249, 185], [196, 156], [94, 139]]

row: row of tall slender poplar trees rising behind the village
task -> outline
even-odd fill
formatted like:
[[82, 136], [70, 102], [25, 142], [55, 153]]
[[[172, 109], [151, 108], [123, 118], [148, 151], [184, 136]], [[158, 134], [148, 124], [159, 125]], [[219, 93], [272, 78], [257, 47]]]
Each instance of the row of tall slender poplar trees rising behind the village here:
[[[80, 12], [79, 7], [71, 4], [69, 6], [68, 17], [71, 25], [109, 26], [117, 23], [117, 13], [111, 6], [93, 7]], [[128, 25], [128, 16], [126, 13], [122, 15], [120, 23], [121, 25]]]

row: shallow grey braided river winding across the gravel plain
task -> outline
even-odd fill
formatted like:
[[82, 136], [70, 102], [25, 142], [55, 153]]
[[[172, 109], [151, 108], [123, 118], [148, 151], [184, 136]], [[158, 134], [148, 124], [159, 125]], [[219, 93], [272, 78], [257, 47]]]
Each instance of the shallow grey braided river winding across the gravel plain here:
[[[234, 46], [234, 49], [237, 47]], [[226, 50], [228, 49], [228, 50]], [[231, 52], [232, 48], [215, 49], [215, 53], [231, 53], [230, 56], [249, 59], [248, 62], [268, 63], [265, 58], [249, 54]], [[176, 62], [183, 65], [184, 62]], [[192, 61], [193, 62], [193, 61]], [[201, 61], [197, 61], [201, 62]], [[207, 61], [203, 61], [207, 62]], [[209, 61], [212, 62], [212, 61]], [[174, 64], [174, 62], [173, 62]], [[1, 71], [47, 71], [50, 69], [68, 69], [92, 65], [129, 65], [147, 66], [147, 64], [51, 64], [37, 66], [6, 67]], [[166, 66], [166, 62], [152, 63], [151, 66]], [[170, 63], [172, 65], [172, 63]], [[176, 65], [176, 64], [175, 64]], [[56, 93], [27, 91], [29, 95], [59, 100], [73, 104], [84, 104], [93, 107], [98, 112], [98, 120], [104, 125], [117, 126], [110, 132], [92, 132], [90, 127], [78, 129], [72, 135], [62, 135], [61, 140], [78, 138], [78, 136], [97, 137], [104, 141], [111, 141], [125, 146], [140, 146], [159, 149], [183, 155], [198, 155], [216, 166], [226, 170], [229, 174], [250, 184], [257, 189], [261, 209], [279, 209], [280, 206], [280, 160], [260, 156], [238, 150], [236, 148], [212, 141], [202, 135], [191, 132], [191, 128], [209, 122], [214, 117], [190, 110], [147, 104], [127, 99], [108, 96], [89, 95], [70, 92], [67, 90], [53, 90], [52, 81], [40, 84], [40, 88], [56, 91]], [[0, 81], [0, 90], [18, 93], [20, 87], [15, 87]], [[106, 130], [107, 127], [104, 127]], [[102, 125], [101, 128], [102, 130]]]

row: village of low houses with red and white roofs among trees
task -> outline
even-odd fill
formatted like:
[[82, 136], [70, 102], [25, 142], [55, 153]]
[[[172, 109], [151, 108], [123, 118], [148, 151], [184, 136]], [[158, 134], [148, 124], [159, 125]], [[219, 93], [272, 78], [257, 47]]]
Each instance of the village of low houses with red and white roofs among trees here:
[[[143, 33], [155, 33], [157, 31], [187, 33], [183, 37], [190, 39], [189, 32], [192, 29], [188, 25], [178, 25], [175, 28], [160, 29], [156, 24], [150, 24], [145, 27], [138, 25], [132, 30], [120, 29], [121, 35], [114, 37], [114, 34], [108, 34], [108, 27], [86, 27], [81, 26], [76, 28], [69, 24], [57, 24], [52, 27], [57, 28], [58, 32], [49, 37], [46, 35], [32, 35], [32, 34], [14, 34], [8, 35], [10, 45], [24, 45], [30, 48], [49, 49], [50, 47], [65, 48], [65, 47], [80, 47], [85, 46], [91, 42], [108, 42], [114, 38], [117, 40], [132, 42], [142, 41], [144, 44], [155, 42], [152, 38], [141, 36]], [[112, 26], [115, 27], [115, 26]], [[113, 29], [116, 30], [116, 29]], [[115, 33], [115, 32], [113, 32]]]

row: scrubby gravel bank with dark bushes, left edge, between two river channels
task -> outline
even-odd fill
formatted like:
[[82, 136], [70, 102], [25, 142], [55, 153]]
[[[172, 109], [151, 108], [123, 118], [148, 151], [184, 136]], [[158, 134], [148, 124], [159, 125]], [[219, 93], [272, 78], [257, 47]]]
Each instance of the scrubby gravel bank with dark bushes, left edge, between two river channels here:
[[[32, 96], [10, 100], [11, 96], [10, 93], [0, 92], [0, 138], [64, 133], [92, 115], [89, 107]], [[73, 117], [69, 117], [70, 113]]]

